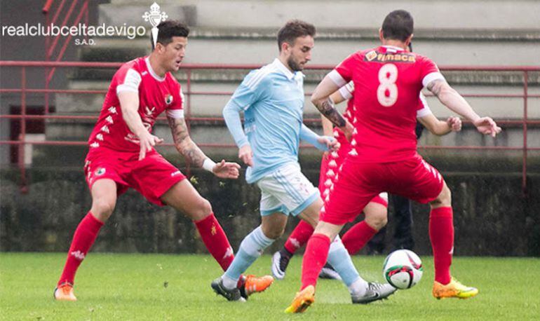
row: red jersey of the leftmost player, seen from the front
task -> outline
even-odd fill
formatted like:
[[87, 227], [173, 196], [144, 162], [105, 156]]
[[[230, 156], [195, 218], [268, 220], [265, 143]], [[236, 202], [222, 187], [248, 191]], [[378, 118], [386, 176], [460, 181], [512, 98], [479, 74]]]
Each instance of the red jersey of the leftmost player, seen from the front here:
[[140, 150], [139, 139], [123, 120], [118, 93], [131, 91], [139, 95], [138, 113], [149, 132], [163, 111], [167, 116], [184, 116], [183, 95], [178, 83], [169, 72], [159, 77], [150, 66], [148, 57], [140, 57], [123, 64], [114, 74], [103, 102], [100, 118], [88, 139], [90, 151], [107, 147], [115, 151]]

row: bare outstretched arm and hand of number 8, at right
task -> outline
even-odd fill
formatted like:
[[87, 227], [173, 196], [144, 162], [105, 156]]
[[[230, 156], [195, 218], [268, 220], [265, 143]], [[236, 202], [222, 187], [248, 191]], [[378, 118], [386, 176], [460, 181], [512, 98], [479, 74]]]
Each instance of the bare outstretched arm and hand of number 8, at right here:
[[501, 132], [501, 128], [492, 118], [478, 116], [464, 97], [461, 97], [444, 79], [436, 78], [430, 81], [426, 87], [446, 107], [471, 121], [482, 134], [495, 137]]

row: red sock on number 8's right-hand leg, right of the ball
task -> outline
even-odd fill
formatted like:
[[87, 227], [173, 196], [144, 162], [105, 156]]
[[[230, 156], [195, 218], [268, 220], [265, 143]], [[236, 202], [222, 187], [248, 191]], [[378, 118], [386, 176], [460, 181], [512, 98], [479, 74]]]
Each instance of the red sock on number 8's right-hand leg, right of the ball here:
[[443, 285], [450, 282], [450, 265], [454, 254], [454, 222], [452, 207], [438, 207], [429, 213], [429, 238], [433, 249], [435, 280]]

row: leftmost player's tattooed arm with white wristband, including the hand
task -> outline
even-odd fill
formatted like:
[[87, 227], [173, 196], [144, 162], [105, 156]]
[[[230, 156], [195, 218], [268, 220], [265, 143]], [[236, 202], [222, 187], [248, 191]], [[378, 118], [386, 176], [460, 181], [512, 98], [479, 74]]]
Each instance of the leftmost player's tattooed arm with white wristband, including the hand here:
[[204, 168], [209, 172], [212, 172], [217, 177], [222, 178], [238, 178], [238, 168], [240, 165], [237, 163], [228, 163], [222, 160], [220, 163], [214, 163], [208, 156], [198, 148], [198, 146], [189, 137], [186, 121], [184, 117], [173, 118], [167, 116], [167, 121], [171, 132], [173, 133], [173, 140], [175, 142], [176, 149], [189, 163], [196, 165], [200, 168]]

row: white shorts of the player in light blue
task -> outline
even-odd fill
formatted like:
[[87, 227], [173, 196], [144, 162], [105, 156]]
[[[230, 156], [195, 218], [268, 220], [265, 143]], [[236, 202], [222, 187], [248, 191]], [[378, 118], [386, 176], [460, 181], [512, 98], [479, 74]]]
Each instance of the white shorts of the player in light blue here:
[[297, 163], [288, 163], [257, 181], [261, 189], [261, 215], [282, 212], [298, 215], [319, 198], [319, 191], [300, 171]]

